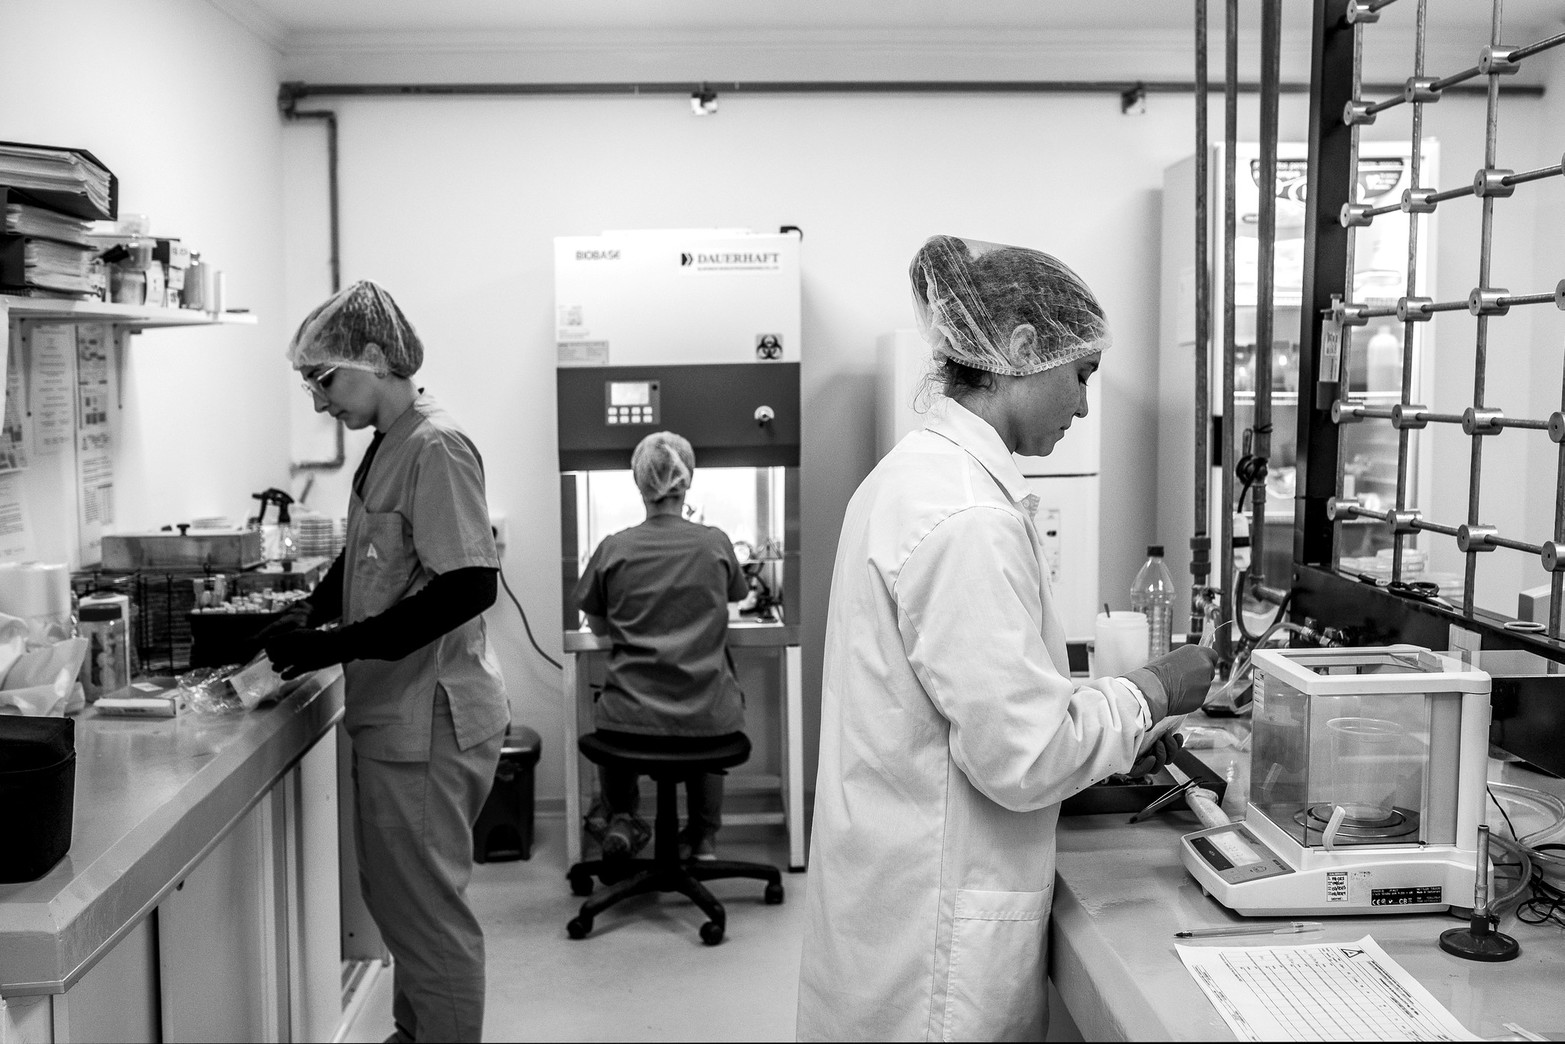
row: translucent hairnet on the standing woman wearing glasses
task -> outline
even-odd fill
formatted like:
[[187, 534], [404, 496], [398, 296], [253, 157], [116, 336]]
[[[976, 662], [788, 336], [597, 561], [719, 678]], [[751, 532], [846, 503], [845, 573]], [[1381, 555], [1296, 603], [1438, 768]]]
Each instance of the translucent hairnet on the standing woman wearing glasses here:
[[288, 362], [294, 369], [330, 365], [412, 377], [424, 365], [424, 344], [391, 294], [362, 279], [305, 316]]

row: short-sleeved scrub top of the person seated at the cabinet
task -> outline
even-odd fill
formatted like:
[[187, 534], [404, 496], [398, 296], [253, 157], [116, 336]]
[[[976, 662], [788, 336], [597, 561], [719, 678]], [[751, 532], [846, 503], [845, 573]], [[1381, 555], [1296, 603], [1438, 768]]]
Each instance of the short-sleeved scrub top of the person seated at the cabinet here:
[[645, 736], [725, 736], [745, 725], [728, 667], [728, 603], [748, 593], [721, 529], [673, 515], [604, 537], [576, 604], [609, 621], [598, 728]]

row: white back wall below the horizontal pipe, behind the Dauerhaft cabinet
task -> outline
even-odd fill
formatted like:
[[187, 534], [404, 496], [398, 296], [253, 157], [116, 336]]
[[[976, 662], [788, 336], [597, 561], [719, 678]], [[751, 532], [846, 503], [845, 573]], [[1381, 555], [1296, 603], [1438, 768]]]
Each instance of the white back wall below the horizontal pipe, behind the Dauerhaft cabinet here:
[[[551, 241], [604, 229], [804, 230], [806, 736], [817, 733], [837, 526], [875, 459], [875, 338], [909, 324], [906, 265], [928, 235], [1047, 249], [1100, 294], [1116, 337], [1102, 376], [1113, 476], [1103, 517], [1116, 520], [1102, 582], [1128, 587], [1152, 540], [1157, 193], [1163, 166], [1188, 149], [1188, 102], [1157, 102], [1157, 117], [1121, 116], [1113, 94], [725, 95], [704, 119], [678, 97], [335, 108], [343, 279], [382, 280], [418, 326], [421, 379], [485, 455], [491, 507], [510, 526], [505, 573], [551, 654], [560, 650]], [[319, 141], [315, 128], [288, 135]], [[291, 202], [288, 211], [293, 221]], [[559, 673], [527, 648], [512, 606], [490, 618], [516, 718], [546, 737], [540, 794], [559, 795]], [[809, 778], [812, 754], [814, 743]]]

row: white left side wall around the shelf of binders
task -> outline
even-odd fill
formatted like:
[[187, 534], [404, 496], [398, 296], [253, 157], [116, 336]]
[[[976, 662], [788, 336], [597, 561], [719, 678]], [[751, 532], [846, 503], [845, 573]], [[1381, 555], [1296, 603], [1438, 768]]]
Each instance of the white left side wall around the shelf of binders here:
[[92, 152], [121, 214], [200, 250], [228, 307], [260, 316], [131, 338], [117, 527], [243, 518], [252, 491], [288, 481], [279, 56], [186, 0], [9, 2], [0, 27], [0, 139]]

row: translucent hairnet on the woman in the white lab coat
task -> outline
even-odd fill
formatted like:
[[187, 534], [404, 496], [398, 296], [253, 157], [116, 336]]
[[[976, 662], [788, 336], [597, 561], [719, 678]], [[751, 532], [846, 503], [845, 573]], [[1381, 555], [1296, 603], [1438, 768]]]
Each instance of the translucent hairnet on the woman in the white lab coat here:
[[[919, 332], [936, 362], [1022, 377], [1110, 346], [1097, 297], [1041, 250], [931, 236], [908, 268]], [[1022, 326], [1034, 337], [1013, 337]]]

